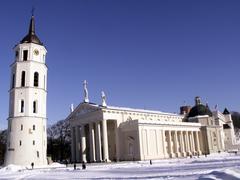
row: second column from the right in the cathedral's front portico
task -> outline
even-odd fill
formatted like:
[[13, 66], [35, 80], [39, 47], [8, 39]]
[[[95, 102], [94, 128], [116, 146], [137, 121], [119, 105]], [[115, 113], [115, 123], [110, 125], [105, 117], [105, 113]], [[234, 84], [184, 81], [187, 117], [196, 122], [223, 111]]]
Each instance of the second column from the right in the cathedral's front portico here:
[[96, 160], [102, 161], [102, 142], [101, 142], [101, 126], [99, 122], [95, 123], [96, 129]]

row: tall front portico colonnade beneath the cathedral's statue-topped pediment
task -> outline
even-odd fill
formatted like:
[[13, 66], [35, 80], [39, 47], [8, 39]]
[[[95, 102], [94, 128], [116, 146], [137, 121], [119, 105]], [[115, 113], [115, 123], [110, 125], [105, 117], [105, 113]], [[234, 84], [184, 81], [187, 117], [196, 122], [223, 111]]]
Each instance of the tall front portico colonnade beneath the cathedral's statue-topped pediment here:
[[73, 162], [109, 161], [106, 120], [72, 127], [71, 133]]

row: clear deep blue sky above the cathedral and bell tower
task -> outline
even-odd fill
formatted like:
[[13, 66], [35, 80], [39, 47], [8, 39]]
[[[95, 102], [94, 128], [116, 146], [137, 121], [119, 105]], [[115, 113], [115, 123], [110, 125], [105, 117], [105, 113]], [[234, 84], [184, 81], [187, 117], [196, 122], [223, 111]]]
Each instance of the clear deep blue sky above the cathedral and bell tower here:
[[36, 33], [47, 50], [48, 123], [71, 103], [178, 112], [201, 96], [213, 108], [240, 109], [240, 1], [39, 0], [0, 2], [0, 129], [8, 117], [13, 46]]

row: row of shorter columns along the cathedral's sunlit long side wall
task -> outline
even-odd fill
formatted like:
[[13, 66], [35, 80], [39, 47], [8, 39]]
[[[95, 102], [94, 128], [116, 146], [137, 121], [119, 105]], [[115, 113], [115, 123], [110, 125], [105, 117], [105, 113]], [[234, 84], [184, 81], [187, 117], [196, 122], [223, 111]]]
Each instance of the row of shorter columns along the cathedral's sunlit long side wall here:
[[167, 153], [169, 157], [200, 155], [199, 131], [166, 130]]

